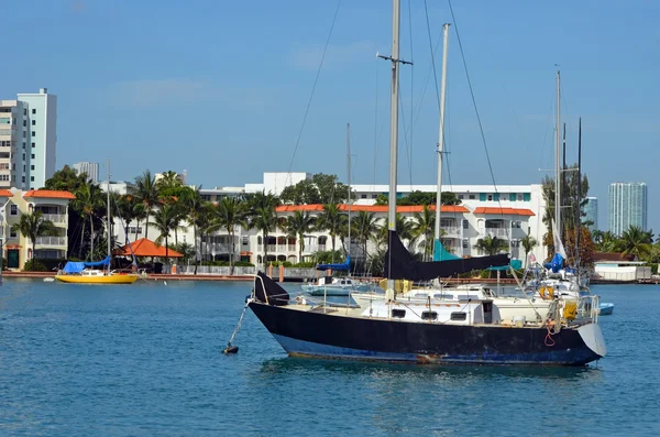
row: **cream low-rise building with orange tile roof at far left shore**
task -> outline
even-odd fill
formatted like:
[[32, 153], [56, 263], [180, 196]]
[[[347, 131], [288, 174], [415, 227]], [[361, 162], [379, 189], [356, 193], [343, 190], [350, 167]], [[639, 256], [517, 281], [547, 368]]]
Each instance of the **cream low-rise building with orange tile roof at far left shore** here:
[[[0, 223], [2, 256], [8, 269], [23, 269], [25, 262], [33, 256], [38, 259], [65, 259], [68, 251], [68, 204], [76, 197], [69, 192], [50, 189], [31, 189], [28, 192], [11, 188], [0, 189]], [[52, 221], [57, 232], [54, 236], [37, 237], [34, 242], [20, 232], [12, 230], [12, 225], [21, 221], [21, 216], [41, 211], [42, 217]]]

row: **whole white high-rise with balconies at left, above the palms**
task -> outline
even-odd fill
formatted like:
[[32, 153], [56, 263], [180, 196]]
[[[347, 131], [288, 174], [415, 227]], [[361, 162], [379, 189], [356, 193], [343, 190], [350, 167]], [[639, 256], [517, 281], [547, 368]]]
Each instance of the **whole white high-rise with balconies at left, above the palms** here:
[[57, 97], [41, 88], [0, 100], [0, 188], [41, 188], [55, 173]]

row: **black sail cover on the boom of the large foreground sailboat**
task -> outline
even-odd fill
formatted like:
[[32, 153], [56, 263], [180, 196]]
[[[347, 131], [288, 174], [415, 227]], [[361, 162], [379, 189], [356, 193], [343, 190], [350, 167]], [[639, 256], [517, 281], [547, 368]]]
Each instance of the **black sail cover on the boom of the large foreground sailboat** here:
[[448, 261], [417, 261], [406, 249], [396, 231], [388, 231], [388, 249], [385, 253], [385, 277], [391, 280], [430, 281], [449, 277], [473, 270], [508, 265], [508, 254], [462, 258]]

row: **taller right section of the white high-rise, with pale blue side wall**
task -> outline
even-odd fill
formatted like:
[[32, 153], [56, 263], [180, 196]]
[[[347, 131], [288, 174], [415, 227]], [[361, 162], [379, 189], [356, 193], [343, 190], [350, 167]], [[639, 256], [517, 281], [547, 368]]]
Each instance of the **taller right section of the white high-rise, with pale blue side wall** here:
[[19, 100], [28, 109], [30, 135], [24, 142], [28, 164], [21, 182], [25, 178], [28, 189], [41, 188], [55, 173], [57, 145], [57, 96], [40, 88], [38, 94], [20, 94]]

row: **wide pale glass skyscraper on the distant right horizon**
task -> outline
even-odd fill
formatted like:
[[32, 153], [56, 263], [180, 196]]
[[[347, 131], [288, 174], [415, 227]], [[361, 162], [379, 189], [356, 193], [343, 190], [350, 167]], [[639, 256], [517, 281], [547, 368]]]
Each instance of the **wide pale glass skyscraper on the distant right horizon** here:
[[631, 226], [646, 231], [647, 199], [644, 182], [609, 184], [609, 230], [616, 236]]

